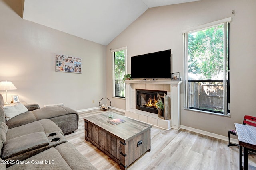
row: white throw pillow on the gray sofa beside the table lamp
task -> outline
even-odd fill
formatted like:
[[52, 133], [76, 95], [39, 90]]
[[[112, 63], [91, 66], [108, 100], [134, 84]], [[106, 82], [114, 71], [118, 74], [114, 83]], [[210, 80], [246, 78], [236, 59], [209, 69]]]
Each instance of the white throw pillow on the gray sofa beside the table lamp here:
[[28, 111], [27, 107], [21, 103], [4, 106], [3, 109], [7, 121]]

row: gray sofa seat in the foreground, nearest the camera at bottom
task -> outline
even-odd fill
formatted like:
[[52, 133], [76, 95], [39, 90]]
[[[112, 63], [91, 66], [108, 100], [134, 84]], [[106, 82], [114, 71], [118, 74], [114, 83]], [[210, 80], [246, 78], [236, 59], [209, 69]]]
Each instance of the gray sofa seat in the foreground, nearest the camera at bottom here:
[[[22, 164], [29, 162], [29, 164]], [[20, 164], [15, 164], [6, 170], [97, 170], [78, 150], [69, 142], [62, 143], [28, 158]], [[5, 164], [0, 164], [0, 169]]]

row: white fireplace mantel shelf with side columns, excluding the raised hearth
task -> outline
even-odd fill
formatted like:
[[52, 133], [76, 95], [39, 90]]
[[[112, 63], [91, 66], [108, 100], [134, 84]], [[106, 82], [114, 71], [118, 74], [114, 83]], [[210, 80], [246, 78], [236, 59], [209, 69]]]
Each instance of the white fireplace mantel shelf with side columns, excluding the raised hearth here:
[[[159, 86], [161, 84], [165, 85], [170, 84], [170, 97], [171, 97], [171, 128], [180, 129], [180, 84], [182, 81], [171, 81], [171, 80], [126, 80], [126, 88], [125, 88], [125, 96], [126, 96], [126, 111], [130, 111], [130, 109], [135, 109], [133, 104], [133, 85], [139, 84], [140, 87], [145, 84], [152, 87]], [[155, 85], [156, 84], [156, 85]], [[145, 88], [147, 89], [147, 88]], [[155, 89], [156, 90], [156, 89]], [[159, 118], [160, 119], [160, 118]], [[162, 120], [159, 120], [162, 121]], [[169, 127], [166, 129], [170, 129]]]

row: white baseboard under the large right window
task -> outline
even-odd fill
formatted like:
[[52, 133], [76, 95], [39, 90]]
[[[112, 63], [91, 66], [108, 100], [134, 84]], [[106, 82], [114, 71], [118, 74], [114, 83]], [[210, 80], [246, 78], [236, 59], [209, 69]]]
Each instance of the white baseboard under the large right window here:
[[[228, 141], [227, 136], [222, 136], [222, 135], [218, 135], [218, 134], [215, 134], [215, 133], [210, 133], [210, 132], [207, 132], [207, 131], [202, 131], [202, 130], [199, 130], [199, 129], [195, 129], [195, 128], [187, 127], [187, 126], [183, 126], [183, 125], [181, 125], [180, 128], [188, 130], [188, 131], [200, 133], [202, 135], [206, 135], [206, 136], [214, 137], [214, 138], [217, 138], [217, 139], [221, 139], [221, 140], [224, 140], [224, 141]], [[227, 135], [228, 135], [228, 131], [227, 131]], [[234, 139], [234, 138], [230, 138], [230, 142], [231, 143], [238, 143], [237, 139]]]

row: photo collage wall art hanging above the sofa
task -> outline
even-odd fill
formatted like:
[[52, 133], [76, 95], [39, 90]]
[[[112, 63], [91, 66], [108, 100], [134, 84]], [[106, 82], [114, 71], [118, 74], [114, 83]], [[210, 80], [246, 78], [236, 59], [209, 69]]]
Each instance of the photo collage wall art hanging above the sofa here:
[[55, 54], [55, 71], [82, 73], [82, 59], [68, 55]]

